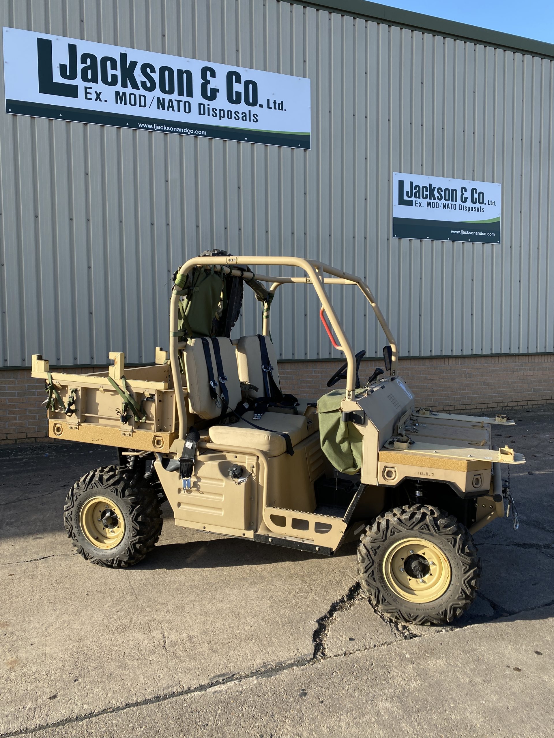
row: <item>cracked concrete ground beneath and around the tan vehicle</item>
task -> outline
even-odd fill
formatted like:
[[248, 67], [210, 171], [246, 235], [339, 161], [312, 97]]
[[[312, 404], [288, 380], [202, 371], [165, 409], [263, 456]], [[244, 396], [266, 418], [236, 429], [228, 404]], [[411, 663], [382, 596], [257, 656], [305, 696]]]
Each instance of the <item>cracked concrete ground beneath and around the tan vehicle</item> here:
[[527, 457], [511, 469], [521, 525], [476, 534], [481, 590], [448, 628], [376, 615], [353, 546], [325, 559], [208, 536], [169, 509], [146, 562], [90, 565], [61, 511], [112, 451], [2, 447], [0, 734], [553, 736], [554, 408], [516, 420], [495, 441]]

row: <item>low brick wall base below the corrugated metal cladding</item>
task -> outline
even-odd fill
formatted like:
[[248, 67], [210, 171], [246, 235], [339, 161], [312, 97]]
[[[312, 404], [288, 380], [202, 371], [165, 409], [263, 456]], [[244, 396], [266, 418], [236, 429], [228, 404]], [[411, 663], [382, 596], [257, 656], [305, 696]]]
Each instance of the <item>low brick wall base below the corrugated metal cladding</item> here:
[[[341, 363], [279, 362], [283, 390], [317, 398], [328, 391], [326, 381]], [[366, 382], [377, 366], [383, 362], [362, 362], [361, 381]], [[554, 354], [400, 359], [398, 373], [414, 392], [416, 404], [435, 410], [508, 410], [554, 402]], [[30, 369], [0, 370], [0, 445], [48, 440], [44, 399], [44, 381], [33, 379]]]

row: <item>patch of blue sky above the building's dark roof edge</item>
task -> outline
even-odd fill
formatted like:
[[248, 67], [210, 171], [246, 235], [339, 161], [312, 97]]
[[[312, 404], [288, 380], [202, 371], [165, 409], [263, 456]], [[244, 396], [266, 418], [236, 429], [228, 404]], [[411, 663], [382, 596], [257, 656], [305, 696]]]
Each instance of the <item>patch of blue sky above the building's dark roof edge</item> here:
[[377, 0], [381, 5], [436, 15], [554, 44], [554, 0]]

